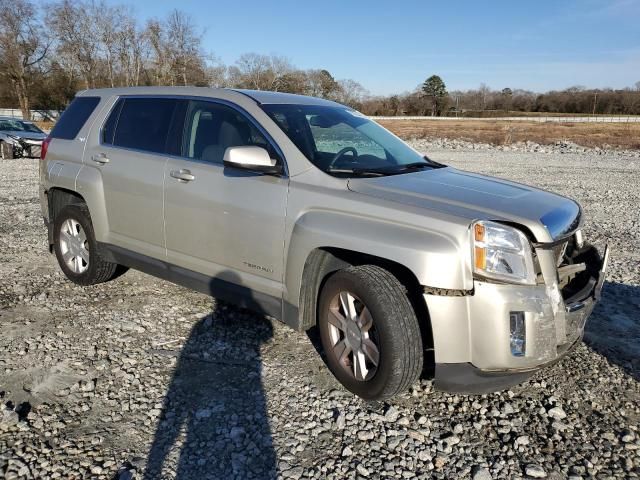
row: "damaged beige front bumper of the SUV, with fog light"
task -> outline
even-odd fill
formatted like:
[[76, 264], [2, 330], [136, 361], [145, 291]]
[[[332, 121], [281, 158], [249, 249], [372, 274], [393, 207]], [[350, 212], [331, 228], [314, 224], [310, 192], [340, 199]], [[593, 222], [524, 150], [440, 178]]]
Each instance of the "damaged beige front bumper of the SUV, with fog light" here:
[[[562, 280], [553, 249], [536, 249], [543, 281], [535, 286], [475, 281], [472, 295], [425, 293], [435, 351], [435, 386], [487, 393], [526, 380], [577, 345], [600, 298], [608, 247], [584, 244], [572, 253], [570, 281]], [[564, 251], [563, 251], [564, 254]], [[580, 262], [580, 263], [578, 263]], [[564, 269], [564, 271], [570, 269]]]

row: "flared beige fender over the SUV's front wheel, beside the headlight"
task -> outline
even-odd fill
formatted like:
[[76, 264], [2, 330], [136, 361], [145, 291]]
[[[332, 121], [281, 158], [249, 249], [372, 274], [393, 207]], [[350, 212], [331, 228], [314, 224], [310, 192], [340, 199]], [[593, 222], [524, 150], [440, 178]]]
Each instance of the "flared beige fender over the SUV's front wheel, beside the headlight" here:
[[297, 218], [289, 238], [285, 301], [298, 305], [305, 261], [323, 247], [399, 263], [424, 286], [470, 290], [473, 279], [467, 237], [468, 227], [453, 223], [446, 231], [435, 231], [336, 211], [306, 212]]

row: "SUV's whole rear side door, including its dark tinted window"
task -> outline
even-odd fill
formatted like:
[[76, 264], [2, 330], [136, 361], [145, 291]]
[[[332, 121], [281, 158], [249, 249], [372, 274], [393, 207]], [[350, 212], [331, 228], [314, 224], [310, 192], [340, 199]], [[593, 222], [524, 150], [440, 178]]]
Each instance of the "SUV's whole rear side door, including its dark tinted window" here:
[[102, 175], [107, 242], [165, 258], [164, 166], [167, 153], [177, 149], [172, 127], [182, 131], [186, 105], [168, 98], [122, 98], [105, 121], [100, 142], [86, 152], [85, 164]]

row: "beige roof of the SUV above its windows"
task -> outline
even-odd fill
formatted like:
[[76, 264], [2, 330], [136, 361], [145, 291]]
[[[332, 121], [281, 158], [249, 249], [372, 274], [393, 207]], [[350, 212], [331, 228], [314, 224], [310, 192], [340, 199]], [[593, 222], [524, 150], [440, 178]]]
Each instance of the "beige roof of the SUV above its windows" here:
[[265, 90], [242, 90], [210, 87], [123, 87], [83, 90], [78, 96], [91, 95], [184, 95], [201, 97], [229, 98], [230, 95], [242, 95], [259, 104], [326, 105], [342, 106], [339, 103], [322, 98], [294, 95], [292, 93], [268, 92]]

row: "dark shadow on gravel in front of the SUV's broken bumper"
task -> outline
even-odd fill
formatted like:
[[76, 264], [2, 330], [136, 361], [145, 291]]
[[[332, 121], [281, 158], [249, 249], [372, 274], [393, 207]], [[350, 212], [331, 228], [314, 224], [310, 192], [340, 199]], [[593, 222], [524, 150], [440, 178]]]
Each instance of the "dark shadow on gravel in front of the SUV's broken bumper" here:
[[584, 341], [640, 381], [640, 287], [605, 282], [585, 326]]

